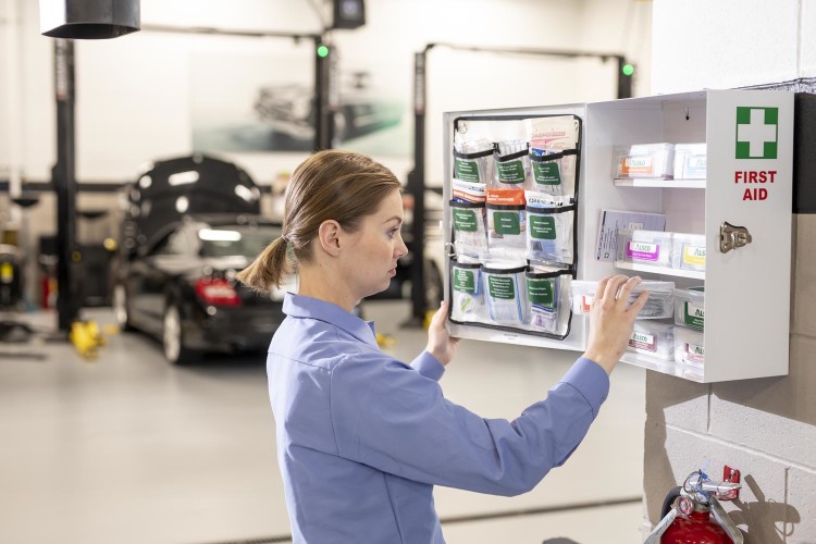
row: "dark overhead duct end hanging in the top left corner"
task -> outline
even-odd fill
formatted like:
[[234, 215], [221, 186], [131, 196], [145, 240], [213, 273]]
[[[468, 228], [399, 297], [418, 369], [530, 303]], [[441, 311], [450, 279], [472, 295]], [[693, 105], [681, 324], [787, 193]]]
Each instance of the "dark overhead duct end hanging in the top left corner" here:
[[116, 38], [139, 29], [139, 0], [39, 0], [39, 22], [51, 38]]

